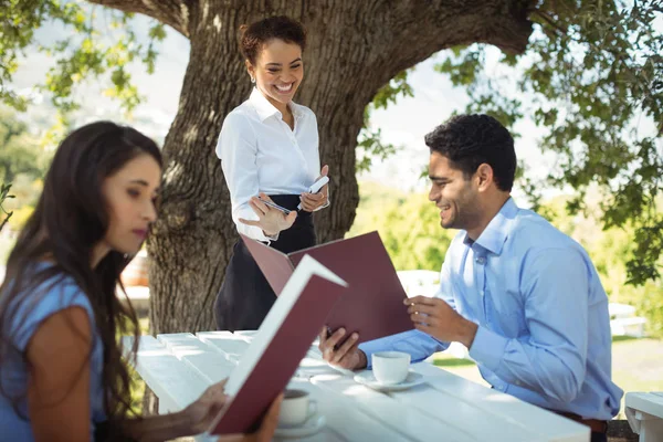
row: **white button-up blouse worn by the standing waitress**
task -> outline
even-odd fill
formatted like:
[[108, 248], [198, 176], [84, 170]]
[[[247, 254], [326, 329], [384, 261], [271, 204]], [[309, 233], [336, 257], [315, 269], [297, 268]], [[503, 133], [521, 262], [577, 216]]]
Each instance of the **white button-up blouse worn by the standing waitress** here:
[[238, 231], [270, 241], [257, 227], [240, 218], [257, 220], [249, 199], [266, 194], [301, 194], [320, 175], [317, 120], [313, 110], [291, 102], [295, 129], [256, 88], [248, 101], [223, 120], [217, 156], [230, 190], [232, 220]]

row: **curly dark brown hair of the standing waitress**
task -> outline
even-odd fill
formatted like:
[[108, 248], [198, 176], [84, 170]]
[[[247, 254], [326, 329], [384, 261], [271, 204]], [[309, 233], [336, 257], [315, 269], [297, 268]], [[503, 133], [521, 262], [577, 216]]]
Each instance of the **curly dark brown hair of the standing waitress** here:
[[266, 19], [240, 27], [240, 49], [244, 59], [255, 65], [257, 54], [263, 44], [272, 39], [280, 39], [286, 43], [295, 43], [306, 49], [306, 31], [302, 23], [285, 15], [269, 17]]

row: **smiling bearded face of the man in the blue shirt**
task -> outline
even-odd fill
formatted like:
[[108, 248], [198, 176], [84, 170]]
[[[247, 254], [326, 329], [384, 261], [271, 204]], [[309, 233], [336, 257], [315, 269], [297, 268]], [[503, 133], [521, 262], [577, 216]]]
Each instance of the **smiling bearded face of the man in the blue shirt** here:
[[440, 209], [444, 229], [472, 230], [481, 220], [481, 204], [474, 177], [465, 179], [445, 156], [433, 151], [429, 162], [429, 200]]

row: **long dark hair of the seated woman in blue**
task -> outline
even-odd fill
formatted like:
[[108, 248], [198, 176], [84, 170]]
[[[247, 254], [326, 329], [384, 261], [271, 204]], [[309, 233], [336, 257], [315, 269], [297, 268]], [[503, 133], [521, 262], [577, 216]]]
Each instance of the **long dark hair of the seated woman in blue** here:
[[[91, 257], [94, 245], [108, 229], [102, 185], [140, 155], [149, 155], [159, 166], [162, 164], [157, 145], [130, 127], [98, 122], [71, 133], [55, 152], [43, 192], [9, 255], [7, 275], [0, 286], [0, 367], [9, 351], [19, 351], [10, 336], [12, 324], [28, 317], [51, 287], [70, 278], [87, 296], [104, 348], [102, 382], [109, 423], [134, 411], [130, 377], [116, 334], [137, 337], [138, 322], [130, 304], [125, 307], [116, 296], [118, 284], [124, 291], [119, 274], [130, 257], [112, 251], [94, 269]], [[35, 265], [44, 260], [53, 265]], [[135, 357], [138, 339], [134, 343]], [[22, 357], [25, 360], [24, 354]], [[12, 401], [17, 411], [27, 394], [9, 397], [1, 385], [0, 393]]]

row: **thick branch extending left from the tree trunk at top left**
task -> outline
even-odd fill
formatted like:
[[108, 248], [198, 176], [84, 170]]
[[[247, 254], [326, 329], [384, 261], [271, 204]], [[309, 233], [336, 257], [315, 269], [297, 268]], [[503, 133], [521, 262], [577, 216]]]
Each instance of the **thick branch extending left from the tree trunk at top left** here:
[[141, 13], [168, 24], [189, 38], [189, 6], [186, 0], [87, 0], [123, 12]]

